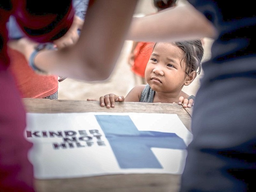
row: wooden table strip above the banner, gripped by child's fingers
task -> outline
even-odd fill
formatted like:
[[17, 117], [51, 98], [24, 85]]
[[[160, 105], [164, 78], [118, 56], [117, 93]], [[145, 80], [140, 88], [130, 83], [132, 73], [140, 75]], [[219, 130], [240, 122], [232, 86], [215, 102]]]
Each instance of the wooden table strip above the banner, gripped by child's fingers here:
[[191, 116], [181, 105], [172, 103], [116, 102], [115, 108], [100, 107], [99, 101], [23, 99], [27, 112], [32, 113], [167, 113], [177, 114], [182, 123], [191, 130]]

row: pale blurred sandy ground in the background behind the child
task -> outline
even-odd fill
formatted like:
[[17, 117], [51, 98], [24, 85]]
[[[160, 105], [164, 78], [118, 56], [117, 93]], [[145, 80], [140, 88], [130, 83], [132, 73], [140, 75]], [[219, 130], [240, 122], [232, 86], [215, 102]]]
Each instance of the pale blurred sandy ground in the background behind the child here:
[[[156, 12], [152, 4], [152, 0], [140, 0], [134, 14], [150, 14]], [[204, 59], [203, 62], [211, 57], [210, 49], [212, 45], [211, 39], [204, 39]], [[129, 53], [132, 48], [132, 41], [125, 41], [116, 67], [108, 80], [104, 82], [83, 82], [75, 79], [67, 78], [59, 83], [59, 99], [61, 100], [86, 100], [87, 98], [99, 99], [100, 96], [108, 93], [116, 95], [124, 95], [136, 85], [138, 85], [134, 74], [130, 70], [127, 62]], [[196, 95], [200, 86], [200, 78], [203, 72], [188, 86], [184, 86], [183, 91], [189, 95]]]

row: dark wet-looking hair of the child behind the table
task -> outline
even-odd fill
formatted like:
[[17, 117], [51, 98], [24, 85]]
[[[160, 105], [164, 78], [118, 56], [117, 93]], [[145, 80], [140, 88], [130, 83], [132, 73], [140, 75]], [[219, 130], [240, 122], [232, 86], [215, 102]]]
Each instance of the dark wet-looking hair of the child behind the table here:
[[[155, 43], [153, 49], [155, 48], [157, 43]], [[201, 73], [201, 61], [204, 56], [204, 48], [202, 45], [202, 41], [200, 39], [196, 40], [188, 40], [188, 41], [176, 41], [171, 43], [184, 52], [183, 58], [181, 59], [185, 61], [185, 72], [187, 75], [192, 71], [196, 71], [196, 73]], [[180, 65], [181, 65], [180, 61]], [[198, 71], [197, 71], [198, 69]]]

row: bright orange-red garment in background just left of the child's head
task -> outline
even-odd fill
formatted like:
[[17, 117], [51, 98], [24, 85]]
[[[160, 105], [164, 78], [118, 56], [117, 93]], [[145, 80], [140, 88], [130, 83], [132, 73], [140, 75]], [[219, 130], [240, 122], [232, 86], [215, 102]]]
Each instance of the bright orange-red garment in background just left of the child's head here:
[[138, 76], [145, 77], [145, 69], [153, 51], [154, 43], [139, 42], [134, 51], [134, 65], [131, 70]]

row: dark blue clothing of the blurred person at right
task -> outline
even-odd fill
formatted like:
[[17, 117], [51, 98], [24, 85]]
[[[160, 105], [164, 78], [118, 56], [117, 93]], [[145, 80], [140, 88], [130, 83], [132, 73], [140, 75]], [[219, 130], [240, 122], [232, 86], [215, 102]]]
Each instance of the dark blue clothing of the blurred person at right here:
[[[190, 0], [218, 30], [192, 116], [184, 191], [255, 190], [256, 55], [253, 1]], [[232, 3], [232, 4], [231, 4]]]

